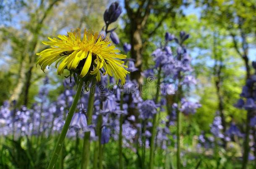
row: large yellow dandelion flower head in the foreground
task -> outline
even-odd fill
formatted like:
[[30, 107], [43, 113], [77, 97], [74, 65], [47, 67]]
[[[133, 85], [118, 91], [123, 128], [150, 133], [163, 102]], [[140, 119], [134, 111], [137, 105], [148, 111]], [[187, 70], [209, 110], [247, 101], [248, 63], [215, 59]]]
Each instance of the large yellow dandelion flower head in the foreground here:
[[[50, 45], [40, 53], [37, 64], [44, 71], [47, 66], [56, 62], [57, 74], [61, 75], [64, 69], [70, 71], [78, 69], [81, 78], [87, 73], [96, 74], [100, 81], [100, 71], [103, 75], [114, 76], [121, 83], [125, 83], [127, 66], [124, 65], [126, 55], [117, 54], [120, 50], [110, 43], [108, 38], [102, 39], [99, 33], [84, 30], [84, 38], [81, 39], [80, 29], [68, 32], [68, 35], [58, 35], [58, 38], [50, 38], [49, 42], [42, 41], [44, 45]], [[58, 64], [60, 63], [60, 64]], [[104, 69], [104, 70], [103, 70]]]

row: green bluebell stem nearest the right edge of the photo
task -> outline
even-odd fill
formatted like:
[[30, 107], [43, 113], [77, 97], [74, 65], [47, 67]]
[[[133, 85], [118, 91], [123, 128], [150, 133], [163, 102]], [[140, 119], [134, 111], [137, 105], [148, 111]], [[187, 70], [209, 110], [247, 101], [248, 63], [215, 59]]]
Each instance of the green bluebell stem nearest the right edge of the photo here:
[[250, 111], [247, 111], [246, 138], [245, 138], [244, 147], [243, 147], [243, 165], [242, 165], [242, 169], [246, 169], [247, 164], [248, 164], [248, 156], [249, 156], [249, 151], [250, 151], [249, 134], [250, 134]]

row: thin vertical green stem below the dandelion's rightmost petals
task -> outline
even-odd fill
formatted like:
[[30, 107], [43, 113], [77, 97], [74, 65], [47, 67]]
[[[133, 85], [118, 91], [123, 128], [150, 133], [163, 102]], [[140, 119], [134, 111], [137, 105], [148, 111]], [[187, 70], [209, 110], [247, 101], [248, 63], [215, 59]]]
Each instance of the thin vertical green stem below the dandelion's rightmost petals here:
[[[123, 92], [120, 97], [120, 110], [123, 110]], [[123, 114], [120, 115], [119, 119], [119, 169], [123, 169]]]

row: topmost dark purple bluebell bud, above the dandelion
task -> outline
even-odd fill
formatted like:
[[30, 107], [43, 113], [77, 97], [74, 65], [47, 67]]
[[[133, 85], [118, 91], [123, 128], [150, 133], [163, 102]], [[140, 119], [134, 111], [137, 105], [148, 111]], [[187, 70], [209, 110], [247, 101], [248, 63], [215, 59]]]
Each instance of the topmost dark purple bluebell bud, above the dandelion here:
[[112, 3], [110, 7], [104, 12], [104, 21], [108, 25], [115, 22], [120, 14], [122, 13], [122, 8], [118, 2]]

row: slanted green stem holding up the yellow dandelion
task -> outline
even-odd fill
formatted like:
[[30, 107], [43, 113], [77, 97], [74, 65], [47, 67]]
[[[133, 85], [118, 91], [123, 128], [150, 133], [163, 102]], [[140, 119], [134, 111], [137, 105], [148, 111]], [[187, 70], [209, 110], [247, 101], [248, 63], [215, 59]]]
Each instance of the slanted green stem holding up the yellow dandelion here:
[[56, 164], [56, 162], [57, 162], [58, 156], [60, 154], [60, 150], [61, 150], [61, 148], [63, 146], [65, 137], [66, 137], [67, 132], [68, 132], [69, 124], [70, 124], [70, 122], [72, 120], [72, 117], [73, 117], [74, 112], [76, 110], [76, 105], [77, 105], [78, 100], [80, 98], [80, 94], [81, 94], [81, 91], [82, 91], [82, 86], [83, 86], [83, 83], [78, 83], [78, 88], [77, 88], [77, 91], [76, 91], [75, 98], [73, 100], [71, 108], [69, 109], [69, 113], [68, 113], [67, 119], [65, 121], [63, 129], [62, 129], [62, 131], [60, 133], [59, 139], [58, 139], [57, 144], [55, 146], [55, 149], [53, 151], [52, 158], [50, 160], [50, 164], [48, 166], [48, 169], [53, 169], [55, 164]]

